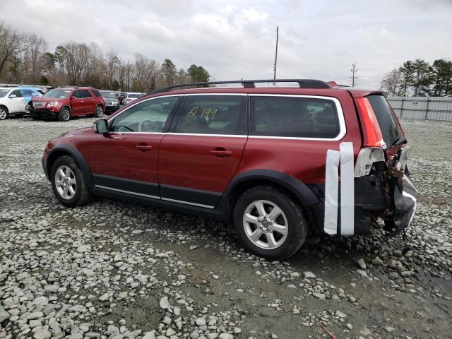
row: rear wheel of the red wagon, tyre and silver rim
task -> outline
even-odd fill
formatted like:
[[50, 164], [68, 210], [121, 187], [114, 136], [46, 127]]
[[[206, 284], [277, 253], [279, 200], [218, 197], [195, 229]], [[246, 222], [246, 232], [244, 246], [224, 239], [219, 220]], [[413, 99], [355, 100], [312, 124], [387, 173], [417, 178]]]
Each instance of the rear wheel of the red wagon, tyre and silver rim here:
[[234, 228], [246, 249], [272, 260], [295, 254], [308, 233], [302, 207], [273, 186], [256, 186], [238, 199]]

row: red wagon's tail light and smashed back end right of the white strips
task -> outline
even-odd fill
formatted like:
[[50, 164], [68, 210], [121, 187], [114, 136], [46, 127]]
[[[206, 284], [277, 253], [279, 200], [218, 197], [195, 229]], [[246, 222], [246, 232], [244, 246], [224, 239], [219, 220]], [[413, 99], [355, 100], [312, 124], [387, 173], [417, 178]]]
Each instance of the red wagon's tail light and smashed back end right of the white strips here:
[[417, 189], [408, 172], [410, 146], [400, 122], [381, 92], [350, 92], [362, 127], [355, 162], [355, 233], [368, 234], [377, 220], [394, 236], [415, 215]]

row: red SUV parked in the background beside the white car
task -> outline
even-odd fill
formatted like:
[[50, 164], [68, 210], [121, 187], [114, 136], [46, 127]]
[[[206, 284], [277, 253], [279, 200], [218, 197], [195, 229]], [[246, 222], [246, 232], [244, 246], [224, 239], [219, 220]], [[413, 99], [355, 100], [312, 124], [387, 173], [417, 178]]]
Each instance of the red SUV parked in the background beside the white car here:
[[42, 97], [32, 97], [30, 116], [32, 119], [69, 121], [71, 117], [94, 115], [102, 117], [105, 100], [98, 90], [90, 87], [54, 88]]

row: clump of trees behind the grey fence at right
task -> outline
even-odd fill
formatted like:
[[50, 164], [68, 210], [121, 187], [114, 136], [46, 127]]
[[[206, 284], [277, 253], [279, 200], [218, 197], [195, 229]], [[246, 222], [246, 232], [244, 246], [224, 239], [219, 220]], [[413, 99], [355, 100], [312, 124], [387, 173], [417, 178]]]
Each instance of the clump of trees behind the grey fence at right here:
[[452, 95], [452, 61], [436, 59], [433, 64], [423, 59], [405, 61], [402, 66], [387, 73], [380, 86], [390, 95]]

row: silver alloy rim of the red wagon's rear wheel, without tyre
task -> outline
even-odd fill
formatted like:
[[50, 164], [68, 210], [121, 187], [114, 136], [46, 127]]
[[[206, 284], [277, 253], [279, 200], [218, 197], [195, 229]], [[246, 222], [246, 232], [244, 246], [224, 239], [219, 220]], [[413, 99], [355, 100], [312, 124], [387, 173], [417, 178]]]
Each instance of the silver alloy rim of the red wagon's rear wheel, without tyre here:
[[276, 249], [287, 238], [287, 218], [275, 203], [258, 200], [249, 204], [243, 215], [246, 236], [261, 249]]

